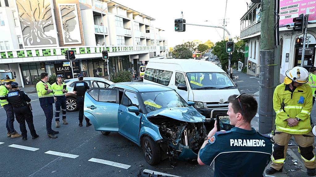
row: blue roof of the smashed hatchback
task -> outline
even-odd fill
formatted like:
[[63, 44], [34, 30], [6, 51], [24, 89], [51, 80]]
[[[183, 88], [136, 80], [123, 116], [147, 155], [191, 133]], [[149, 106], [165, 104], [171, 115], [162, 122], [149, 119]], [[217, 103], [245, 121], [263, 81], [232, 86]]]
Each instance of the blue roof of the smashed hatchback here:
[[155, 91], [167, 91], [173, 90], [171, 88], [152, 84], [152, 83], [143, 83], [143, 82], [121, 82], [121, 83], [114, 83], [109, 88], [123, 88], [135, 92], [155, 92]]

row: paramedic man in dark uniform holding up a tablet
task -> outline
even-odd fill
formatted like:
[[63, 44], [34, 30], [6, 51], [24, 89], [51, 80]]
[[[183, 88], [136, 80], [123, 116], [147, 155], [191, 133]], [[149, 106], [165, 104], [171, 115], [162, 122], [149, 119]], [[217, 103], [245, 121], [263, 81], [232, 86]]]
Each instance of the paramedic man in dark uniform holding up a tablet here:
[[269, 136], [259, 134], [251, 127], [250, 122], [257, 113], [257, 101], [248, 94], [231, 95], [228, 101], [227, 114], [230, 124], [235, 127], [217, 132], [215, 121], [201, 146], [197, 162], [210, 165], [215, 161], [214, 177], [262, 176], [270, 162], [272, 143]]

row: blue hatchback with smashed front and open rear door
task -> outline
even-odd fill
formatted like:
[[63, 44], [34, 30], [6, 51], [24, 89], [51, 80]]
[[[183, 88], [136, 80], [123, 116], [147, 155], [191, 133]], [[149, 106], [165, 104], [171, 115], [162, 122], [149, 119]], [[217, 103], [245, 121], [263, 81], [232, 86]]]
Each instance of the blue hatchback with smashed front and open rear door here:
[[90, 88], [84, 115], [103, 135], [118, 132], [142, 147], [150, 165], [196, 159], [207, 132], [205, 117], [173, 89], [140, 82]]

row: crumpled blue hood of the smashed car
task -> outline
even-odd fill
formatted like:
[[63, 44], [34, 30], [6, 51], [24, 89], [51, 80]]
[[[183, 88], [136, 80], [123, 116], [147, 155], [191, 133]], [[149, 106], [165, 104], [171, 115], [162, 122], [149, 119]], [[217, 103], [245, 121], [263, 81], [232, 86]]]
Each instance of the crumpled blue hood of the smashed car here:
[[158, 115], [190, 123], [205, 122], [205, 117], [192, 106], [159, 109], [149, 112], [146, 117], [149, 118]]

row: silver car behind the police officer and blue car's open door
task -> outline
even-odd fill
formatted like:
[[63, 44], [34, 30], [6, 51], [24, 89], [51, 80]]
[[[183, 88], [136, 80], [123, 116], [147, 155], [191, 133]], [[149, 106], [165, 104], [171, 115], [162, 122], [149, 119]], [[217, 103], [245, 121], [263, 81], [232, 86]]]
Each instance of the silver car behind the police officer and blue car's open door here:
[[[108, 88], [113, 84], [112, 81], [101, 77], [84, 77], [83, 81], [88, 83], [90, 88], [98, 87], [98, 88]], [[78, 78], [66, 79], [64, 80], [67, 85], [68, 93], [65, 93], [66, 96], [66, 109], [69, 112], [76, 111], [78, 109], [77, 106], [77, 96], [74, 94], [74, 85], [78, 82]]]

